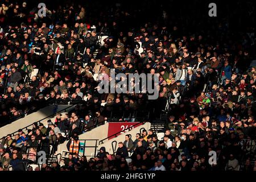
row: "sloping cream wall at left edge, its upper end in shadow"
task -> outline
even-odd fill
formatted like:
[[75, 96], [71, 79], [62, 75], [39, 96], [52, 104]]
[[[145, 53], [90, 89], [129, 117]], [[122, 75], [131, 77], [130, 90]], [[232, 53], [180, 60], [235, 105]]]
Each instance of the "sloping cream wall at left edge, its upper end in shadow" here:
[[[56, 105], [50, 105], [47, 107], [44, 107], [43, 109], [40, 109], [36, 111], [35, 113], [26, 115], [24, 118], [20, 118], [9, 125], [3, 126], [0, 128], [0, 138], [5, 137], [8, 134], [14, 133], [15, 131], [18, 131], [19, 129], [22, 129], [28, 125], [31, 125], [32, 123], [39, 121], [40, 119], [46, 118], [49, 115], [54, 114], [56, 111], [59, 112], [60, 110], [63, 110], [70, 105], [58, 105], [56, 109]], [[69, 107], [68, 110], [73, 109], [73, 107]], [[49, 117], [47, 119], [51, 119], [52, 117]], [[47, 119], [45, 121], [42, 121], [44, 124], [47, 123]]]

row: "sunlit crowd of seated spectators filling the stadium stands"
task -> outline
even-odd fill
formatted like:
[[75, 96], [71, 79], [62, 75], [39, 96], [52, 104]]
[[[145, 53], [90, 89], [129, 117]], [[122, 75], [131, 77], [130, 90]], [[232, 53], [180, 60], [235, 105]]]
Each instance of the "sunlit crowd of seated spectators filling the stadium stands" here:
[[[71, 154], [64, 167], [53, 162], [41, 170], [253, 170], [256, 68], [250, 68], [255, 58], [250, 31], [233, 32], [215, 22], [212, 30], [201, 25], [191, 32], [181, 25], [188, 22], [166, 23], [171, 20], [166, 14], [158, 23], [133, 27], [134, 16], [118, 7], [110, 12], [111, 22], [93, 22], [95, 27], [81, 5], [46, 9], [45, 17], [36, 11], [19, 1], [0, 7], [0, 125], [48, 104], [81, 106], [58, 115], [47, 128], [35, 123], [26, 134], [4, 138], [0, 169], [24, 170], [23, 164], [35, 162], [38, 147], [47, 154], [49, 146], [56, 151], [66, 140], [61, 132], [68, 131], [72, 142], [109, 118], [119, 121], [145, 110], [149, 119], [168, 114], [163, 138], [143, 131], [135, 141], [126, 136], [115, 154], [101, 148], [88, 161]], [[158, 73], [159, 98], [98, 93], [95, 75], [109, 76], [110, 69], [126, 75]], [[217, 152], [217, 165], [208, 164], [209, 151]]]

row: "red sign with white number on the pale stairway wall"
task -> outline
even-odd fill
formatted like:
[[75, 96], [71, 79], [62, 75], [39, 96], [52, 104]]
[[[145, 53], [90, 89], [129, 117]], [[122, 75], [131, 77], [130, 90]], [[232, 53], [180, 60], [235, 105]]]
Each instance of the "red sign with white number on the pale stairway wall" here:
[[[123, 133], [126, 133], [127, 131], [133, 130], [137, 126], [142, 125], [142, 123], [139, 123], [139, 124], [138, 123], [139, 122], [113, 122], [113, 123], [110, 122], [109, 123], [108, 137], [110, 137], [111, 135], [114, 135], [114, 134], [124, 130], [121, 133], [117, 134], [117, 136], [121, 135]], [[138, 125], [136, 125], [136, 124], [138, 124]], [[134, 125], [136, 125], [136, 126], [134, 126]], [[134, 127], [132, 127], [132, 126], [134, 126]], [[115, 136], [110, 137], [109, 140], [112, 139], [112, 138], [115, 138]]]

